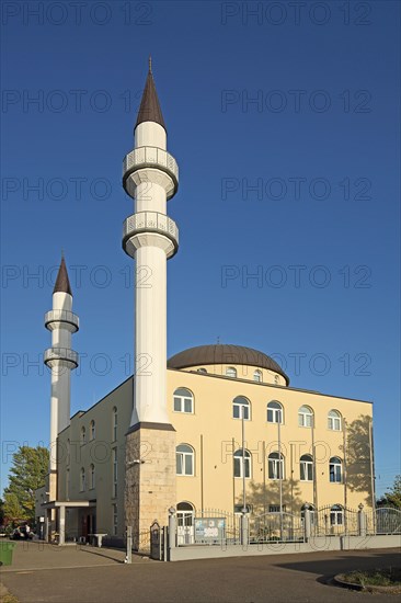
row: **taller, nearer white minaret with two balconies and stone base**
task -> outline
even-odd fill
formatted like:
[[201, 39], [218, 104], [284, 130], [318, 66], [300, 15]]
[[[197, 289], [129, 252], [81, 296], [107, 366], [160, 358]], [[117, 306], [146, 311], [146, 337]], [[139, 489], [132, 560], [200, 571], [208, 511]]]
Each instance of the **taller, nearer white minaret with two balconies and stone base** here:
[[167, 260], [176, 253], [179, 229], [167, 215], [167, 201], [176, 193], [179, 168], [167, 152], [150, 59], [134, 134], [123, 185], [135, 201], [135, 214], [124, 223], [123, 248], [136, 261], [134, 410], [125, 498], [135, 542], [154, 519], [164, 522], [175, 504], [175, 432], [167, 410]]

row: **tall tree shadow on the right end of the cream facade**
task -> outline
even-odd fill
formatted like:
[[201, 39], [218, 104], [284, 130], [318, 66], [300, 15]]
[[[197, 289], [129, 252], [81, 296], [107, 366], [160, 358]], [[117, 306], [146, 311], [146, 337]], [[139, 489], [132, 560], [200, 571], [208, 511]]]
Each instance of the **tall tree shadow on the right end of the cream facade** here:
[[[369, 432], [370, 417], [360, 414], [355, 421], [346, 424], [346, 481], [352, 492], [367, 494], [365, 503], [371, 507], [371, 477]], [[342, 446], [343, 448], [343, 446]]]

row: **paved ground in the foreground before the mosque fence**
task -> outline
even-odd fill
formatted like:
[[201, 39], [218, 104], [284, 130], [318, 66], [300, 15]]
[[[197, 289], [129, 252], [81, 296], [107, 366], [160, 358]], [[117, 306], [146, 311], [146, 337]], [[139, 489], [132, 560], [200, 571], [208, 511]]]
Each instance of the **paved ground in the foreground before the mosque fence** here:
[[[330, 585], [335, 573], [396, 566], [397, 549], [308, 553], [163, 564], [106, 548], [23, 550], [2, 581], [21, 603], [386, 603], [392, 595]], [[78, 562], [80, 561], [80, 562]]]

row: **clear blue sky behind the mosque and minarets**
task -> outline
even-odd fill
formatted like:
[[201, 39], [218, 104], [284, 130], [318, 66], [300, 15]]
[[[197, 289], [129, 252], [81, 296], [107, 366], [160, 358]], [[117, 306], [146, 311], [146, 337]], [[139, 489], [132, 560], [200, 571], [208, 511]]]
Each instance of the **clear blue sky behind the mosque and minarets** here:
[[121, 174], [151, 53], [181, 169], [169, 354], [219, 337], [285, 362], [294, 387], [373, 400], [382, 493], [400, 473], [400, 4], [64, 5], [2, 5], [2, 485], [14, 445], [48, 442], [61, 248], [71, 412], [130, 373]]

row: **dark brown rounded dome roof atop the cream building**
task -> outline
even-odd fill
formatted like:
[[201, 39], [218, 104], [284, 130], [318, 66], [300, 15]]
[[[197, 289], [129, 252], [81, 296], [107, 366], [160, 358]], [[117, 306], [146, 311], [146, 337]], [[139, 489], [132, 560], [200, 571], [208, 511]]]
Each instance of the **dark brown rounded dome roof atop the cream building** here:
[[245, 366], [267, 368], [267, 371], [273, 371], [282, 375], [287, 382], [287, 385], [289, 384], [289, 378], [284, 373], [283, 368], [263, 352], [259, 352], [252, 348], [229, 345], [226, 343], [188, 348], [171, 356], [168, 361], [168, 368], [187, 368], [190, 366], [207, 364], [242, 364]]

